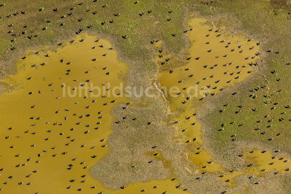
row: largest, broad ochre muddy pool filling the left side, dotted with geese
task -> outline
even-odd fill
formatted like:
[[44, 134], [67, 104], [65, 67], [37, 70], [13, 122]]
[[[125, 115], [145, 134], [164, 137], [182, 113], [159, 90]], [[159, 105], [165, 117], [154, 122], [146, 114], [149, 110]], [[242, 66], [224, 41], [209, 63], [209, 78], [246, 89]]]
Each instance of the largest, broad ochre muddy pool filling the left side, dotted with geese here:
[[[79, 41], [81, 39], [84, 41]], [[109, 151], [109, 146], [102, 146], [107, 143], [106, 139], [111, 132], [111, 108], [116, 103], [127, 103], [122, 95], [113, 96], [113, 93], [120, 93], [118, 89], [112, 91], [120, 86], [120, 76], [126, 72], [127, 66], [118, 61], [115, 50], [110, 49], [108, 42], [95, 42], [96, 40], [96, 37], [82, 35], [77, 36], [73, 43], [65, 43], [64, 47], [55, 52], [34, 54], [36, 51], [31, 51], [29, 53], [33, 54], [27, 53], [26, 59], [17, 61], [17, 75], [4, 80], [11, 83], [15, 90], [0, 98], [0, 168], [5, 168], [1, 171], [0, 180], [1, 184], [8, 182], [0, 186], [3, 187], [2, 192], [71, 193], [77, 192], [79, 188], [83, 188], [86, 193], [101, 192], [100, 188], [90, 188], [100, 183], [91, 177], [89, 170]], [[92, 61], [94, 58], [96, 61]], [[64, 60], [62, 63], [61, 59]], [[45, 65], [40, 65], [44, 62]], [[34, 64], [36, 66], [31, 67]], [[102, 69], [105, 67], [107, 69]], [[86, 71], [90, 72], [85, 73]], [[107, 72], [110, 74], [107, 75]], [[29, 77], [32, 78], [28, 80]], [[104, 82], [108, 84], [103, 86]], [[51, 83], [53, 85], [49, 86]], [[80, 86], [81, 84], [86, 85]], [[76, 90], [72, 90], [74, 87]], [[106, 90], [110, 87], [111, 90]], [[84, 98], [86, 95], [88, 97]], [[102, 98], [103, 95], [107, 97]], [[95, 99], [96, 102], [93, 101]], [[104, 105], [105, 103], [108, 104]], [[75, 113], [77, 115], [73, 115]], [[77, 124], [79, 122], [81, 123]], [[98, 122], [101, 123], [97, 124]], [[32, 126], [33, 124], [36, 125]], [[13, 129], [9, 130], [10, 127]], [[85, 133], [87, 130], [89, 132]], [[7, 136], [10, 137], [5, 139]], [[104, 138], [104, 141], [100, 141]], [[73, 139], [75, 140], [72, 141]], [[85, 146], [81, 147], [82, 145]], [[53, 149], [54, 147], [56, 148]], [[17, 154], [20, 156], [15, 156]], [[54, 154], [57, 155], [53, 156]], [[91, 157], [93, 155], [97, 157]], [[31, 160], [27, 161], [29, 158]], [[77, 159], [72, 161], [73, 158]], [[40, 161], [36, 163], [38, 160]], [[83, 161], [85, 163], [80, 164]], [[21, 166], [15, 167], [18, 164]], [[70, 164], [74, 165], [68, 170]], [[38, 171], [32, 172], [34, 170]], [[26, 177], [29, 174], [32, 175]], [[82, 175], [86, 177], [81, 177]], [[9, 176], [13, 178], [9, 179]], [[71, 183], [71, 179], [76, 181]], [[83, 180], [86, 182], [81, 183]], [[20, 182], [24, 183], [19, 185]], [[29, 182], [31, 185], [26, 185]], [[72, 188], [66, 189], [68, 186]]]

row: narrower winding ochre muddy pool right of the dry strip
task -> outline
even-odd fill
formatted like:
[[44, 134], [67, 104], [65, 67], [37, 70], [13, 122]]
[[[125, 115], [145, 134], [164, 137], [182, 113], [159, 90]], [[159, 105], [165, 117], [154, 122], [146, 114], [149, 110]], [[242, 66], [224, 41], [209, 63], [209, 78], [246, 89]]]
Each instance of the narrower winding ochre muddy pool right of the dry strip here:
[[[245, 80], [251, 75], [253, 64], [259, 58], [259, 45], [255, 41], [242, 36], [230, 36], [223, 33], [223, 29], [217, 31], [215, 26], [203, 25], [205, 22], [203, 19], [193, 19], [189, 23], [194, 29], [187, 32], [191, 46], [184, 66], [175, 67], [171, 56], [162, 51], [161, 44], [155, 45], [159, 50], [156, 59], [162, 69], [159, 82], [170, 100], [171, 112], [176, 115], [170, 121], [177, 129], [176, 142], [187, 147], [190, 161], [198, 166], [200, 172], [222, 175], [221, 180], [230, 187], [237, 185], [233, 178], [238, 175], [247, 173], [261, 176], [265, 172], [284, 171], [288, 166], [283, 162], [286, 158], [278, 161], [281, 156], [277, 157], [274, 159], [276, 163], [270, 165], [274, 162], [270, 154], [260, 151], [246, 152], [247, 163], [255, 163], [251, 168], [246, 167], [242, 172], [231, 171], [212, 162], [210, 151], [203, 148], [201, 125], [197, 122], [193, 107], [224, 88]], [[230, 140], [235, 141], [235, 138]]]

